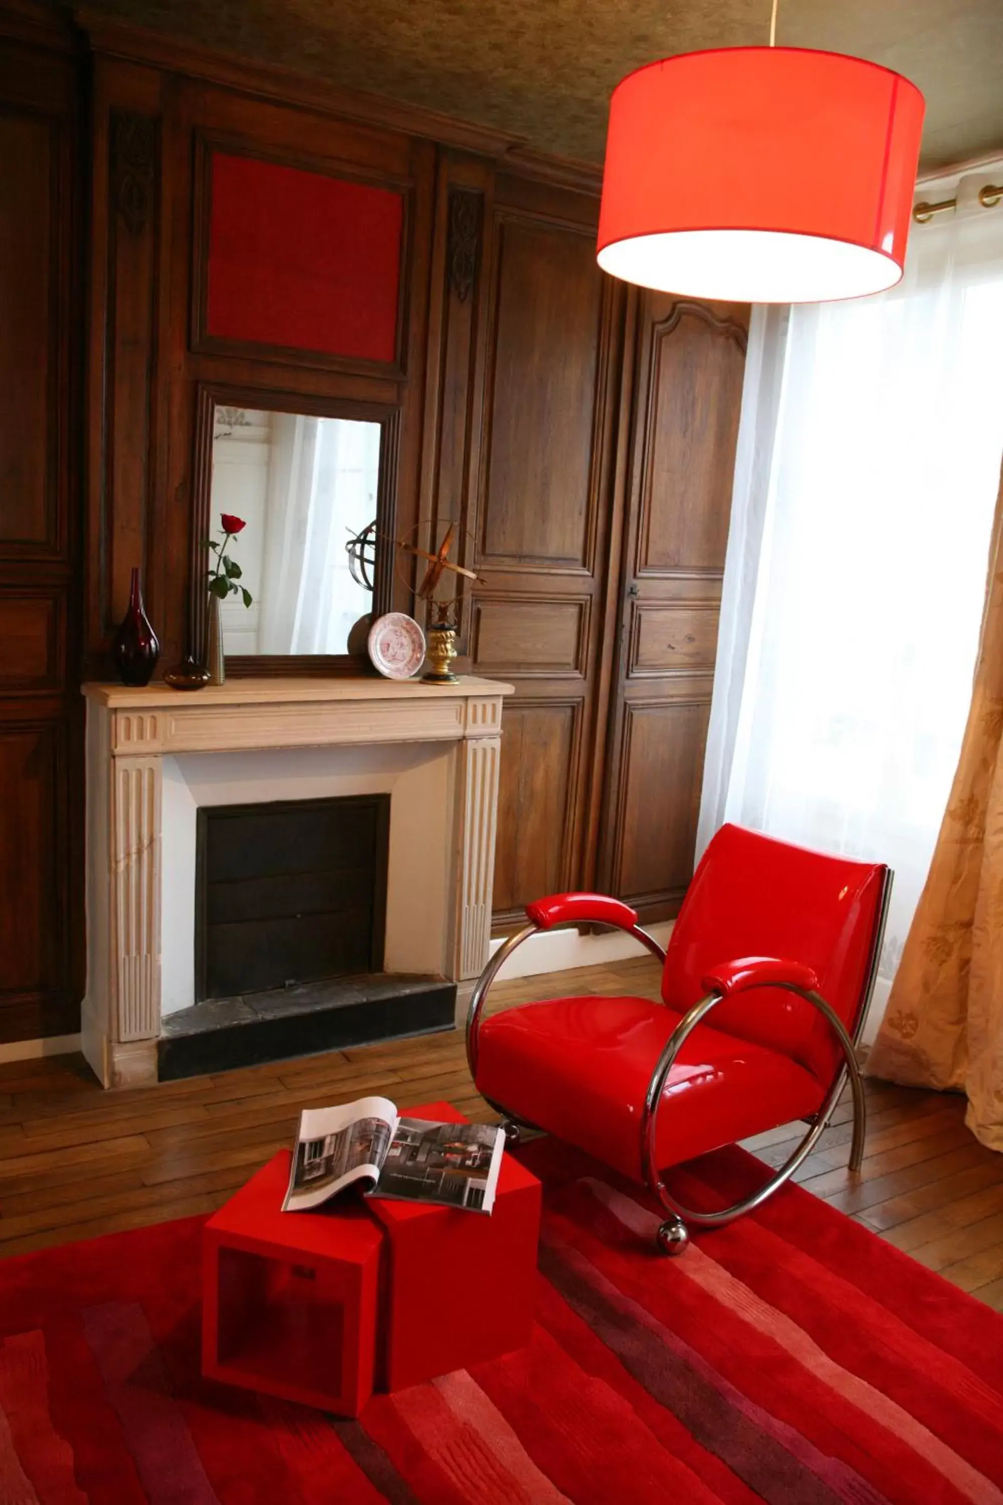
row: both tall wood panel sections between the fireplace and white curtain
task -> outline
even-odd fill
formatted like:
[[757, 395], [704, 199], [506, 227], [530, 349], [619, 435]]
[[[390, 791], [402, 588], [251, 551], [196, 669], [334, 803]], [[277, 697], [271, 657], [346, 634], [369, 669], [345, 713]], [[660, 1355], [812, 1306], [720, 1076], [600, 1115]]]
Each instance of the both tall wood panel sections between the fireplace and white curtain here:
[[[430, 476], [478, 572], [468, 662], [516, 686], [496, 929], [591, 886], [665, 920], [693, 870], [747, 309], [603, 277], [594, 194], [444, 176]], [[451, 271], [460, 203], [472, 286]]]

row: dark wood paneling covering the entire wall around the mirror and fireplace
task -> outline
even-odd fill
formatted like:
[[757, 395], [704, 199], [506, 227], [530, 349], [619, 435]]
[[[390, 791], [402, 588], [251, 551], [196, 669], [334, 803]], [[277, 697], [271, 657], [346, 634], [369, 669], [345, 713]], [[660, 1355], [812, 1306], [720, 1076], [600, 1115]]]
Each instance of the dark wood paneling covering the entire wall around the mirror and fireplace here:
[[[0, 361], [18, 373], [0, 393], [0, 1040], [77, 1023], [80, 679], [110, 674], [135, 566], [161, 667], [200, 647], [194, 489], [214, 391], [392, 409], [397, 534], [429, 542], [459, 524], [478, 572], [462, 664], [516, 685], [498, 927], [544, 891], [592, 885], [648, 918], [674, 912], [692, 868], [744, 312], [603, 277], [589, 169], [44, 15], [0, 0]], [[214, 149], [405, 196], [392, 361], [208, 331]], [[406, 581], [392, 600], [414, 610]]]

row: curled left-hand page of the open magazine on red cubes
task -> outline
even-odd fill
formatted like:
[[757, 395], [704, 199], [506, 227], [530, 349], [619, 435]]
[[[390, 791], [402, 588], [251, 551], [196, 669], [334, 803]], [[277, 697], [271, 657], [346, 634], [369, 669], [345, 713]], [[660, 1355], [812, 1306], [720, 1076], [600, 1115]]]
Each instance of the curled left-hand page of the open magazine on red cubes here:
[[283, 1212], [319, 1207], [344, 1186], [379, 1180], [397, 1121], [388, 1097], [304, 1109]]

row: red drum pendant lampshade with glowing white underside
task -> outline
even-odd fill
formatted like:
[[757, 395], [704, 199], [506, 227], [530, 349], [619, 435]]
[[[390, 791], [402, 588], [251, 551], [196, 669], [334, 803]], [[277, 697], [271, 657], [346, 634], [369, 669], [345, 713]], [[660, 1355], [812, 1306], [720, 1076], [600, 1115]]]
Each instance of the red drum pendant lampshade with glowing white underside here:
[[922, 125], [914, 84], [839, 53], [729, 47], [639, 68], [609, 107], [598, 265], [737, 303], [892, 287]]

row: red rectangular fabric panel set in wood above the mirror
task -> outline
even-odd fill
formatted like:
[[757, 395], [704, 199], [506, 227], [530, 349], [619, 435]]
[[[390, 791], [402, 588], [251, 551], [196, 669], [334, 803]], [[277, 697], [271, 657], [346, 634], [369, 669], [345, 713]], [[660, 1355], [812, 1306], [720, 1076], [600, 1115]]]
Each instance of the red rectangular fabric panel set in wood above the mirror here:
[[211, 187], [209, 339], [395, 363], [402, 193], [227, 152]]

